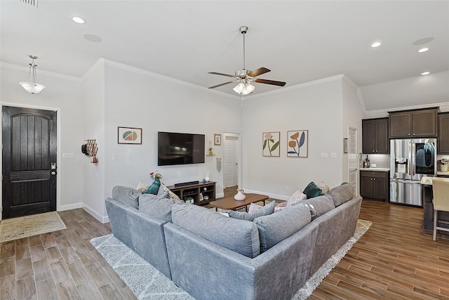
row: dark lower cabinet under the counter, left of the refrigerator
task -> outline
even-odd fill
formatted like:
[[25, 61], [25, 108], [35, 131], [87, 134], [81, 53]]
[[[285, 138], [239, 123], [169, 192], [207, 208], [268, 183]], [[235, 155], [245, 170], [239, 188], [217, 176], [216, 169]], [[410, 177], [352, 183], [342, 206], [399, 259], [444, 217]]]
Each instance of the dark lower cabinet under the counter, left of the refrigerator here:
[[389, 201], [389, 172], [360, 171], [360, 195], [369, 199]]

